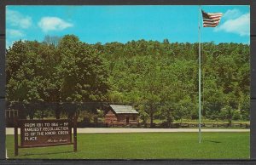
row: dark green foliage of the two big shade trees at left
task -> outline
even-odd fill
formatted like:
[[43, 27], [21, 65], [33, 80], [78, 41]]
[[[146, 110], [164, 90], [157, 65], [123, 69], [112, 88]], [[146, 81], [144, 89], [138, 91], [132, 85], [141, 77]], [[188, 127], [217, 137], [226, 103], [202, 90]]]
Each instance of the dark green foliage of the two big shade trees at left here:
[[[26, 106], [30, 118], [34, 103], [107, 100], [108, 71], [92, 46], [78, 37], [62, 37], [52, 44], [18, 41], [7, 50], [7, 98]], [[31, 107], [31, 108], [30, 108]], [[56, 108], [60, 117], [60, 108]], [[70, 115], [74, 109], [66, 110]]]

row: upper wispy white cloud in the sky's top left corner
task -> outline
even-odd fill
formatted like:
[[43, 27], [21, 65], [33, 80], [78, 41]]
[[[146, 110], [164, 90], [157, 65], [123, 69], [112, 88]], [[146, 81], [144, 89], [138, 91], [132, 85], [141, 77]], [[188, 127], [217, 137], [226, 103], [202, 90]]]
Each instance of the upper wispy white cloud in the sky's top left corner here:
[[7, 9], [6, 20], [7, 24], [10, 26], [16, 26], [23, 29], [32, 26], [32, 18], [30, 16], [20, 14], [20, 12], [15, 10]]

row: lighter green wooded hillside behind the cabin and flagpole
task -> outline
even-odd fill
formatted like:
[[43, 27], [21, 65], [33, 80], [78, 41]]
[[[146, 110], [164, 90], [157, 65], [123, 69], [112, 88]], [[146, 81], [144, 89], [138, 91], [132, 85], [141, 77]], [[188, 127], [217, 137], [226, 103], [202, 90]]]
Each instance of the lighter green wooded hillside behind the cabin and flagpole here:
[[[222, 117], [228, 105], [249, 113], [249, 46], [203, 43], [203, 116]], [[110, 61], [110, 101], [141, 105], [149, 117], [198, 118], [198, 45], [131, 41], [102, 46]], [[236, 118], [236, 117], [235, 117]]]

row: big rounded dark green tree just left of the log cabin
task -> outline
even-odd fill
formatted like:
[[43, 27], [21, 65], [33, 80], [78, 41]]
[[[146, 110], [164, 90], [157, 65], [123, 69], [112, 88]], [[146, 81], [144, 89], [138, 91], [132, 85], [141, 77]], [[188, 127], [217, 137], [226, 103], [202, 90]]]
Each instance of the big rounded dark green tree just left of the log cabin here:
[[108, 71], [98, 51], [73, 35], [64, 36], [57, 49], [61, 56], [56, 68], [61, 102], [107, 100]]

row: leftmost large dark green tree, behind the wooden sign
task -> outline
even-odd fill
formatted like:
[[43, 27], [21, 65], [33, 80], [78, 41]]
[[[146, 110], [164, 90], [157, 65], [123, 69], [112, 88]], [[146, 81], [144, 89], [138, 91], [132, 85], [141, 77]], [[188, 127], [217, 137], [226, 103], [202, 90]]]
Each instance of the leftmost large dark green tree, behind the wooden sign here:
[[11, 103], [21, 103], [29, 117], [33, 118], [36, 111], [34, 105], [47, 101], [49, 65], [42, 56], [42, 50], [50, 51], [38, 42], [16, 42], [7, 50], [7, 99]]

